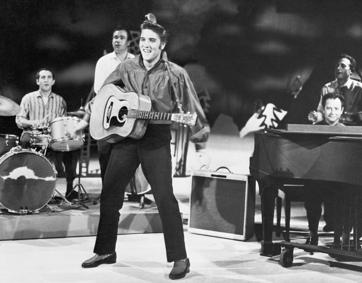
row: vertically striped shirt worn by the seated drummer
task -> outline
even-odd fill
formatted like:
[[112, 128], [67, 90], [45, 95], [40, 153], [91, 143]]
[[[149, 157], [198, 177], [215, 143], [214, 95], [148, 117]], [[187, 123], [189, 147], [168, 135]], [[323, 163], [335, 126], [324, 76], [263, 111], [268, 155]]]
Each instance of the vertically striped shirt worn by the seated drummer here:
[[31, 130], [30, 128], [24, 128], [23, 123], [27, 120], [40, 120], [42, 121], [47, 115], [44, 121], [40, 124], [39, 128], [47, 128], [47, 124], [57, 118], [66, 116], [67, 103], [60, 96], [55, 93], [51, 93], [48, 98], [48, 102], [45, 105], [42, 95], [39, 90], [32, 93], [25, 94], [20, 103], [21, 111], [16, 115], [15, 121], [20, 129], [24, 129], [24, 132], [41, 133], [40, 130]]

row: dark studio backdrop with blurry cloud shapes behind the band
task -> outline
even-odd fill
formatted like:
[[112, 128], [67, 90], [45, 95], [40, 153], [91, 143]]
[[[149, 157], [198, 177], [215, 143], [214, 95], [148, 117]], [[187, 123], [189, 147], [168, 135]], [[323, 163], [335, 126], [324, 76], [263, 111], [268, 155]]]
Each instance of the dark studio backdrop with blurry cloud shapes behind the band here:
[[[335, 56], [362, 60], [361, 8], [352, 0], [2, 1], [0, 91], [20, 103], [47, 66], [55, 93], [77, 110], [97, 60], [112, 51], [114, 27], [138, 31], [152, 12], [169, 31], [169, 59], [188, 70], [211, 124], [224, 113], [241, 129], [268, 102], [289, 110], [291, 123], [308, 123], [321, 86], [333, 80]], [[294, 99], [296, 76], [304, 86]], [[14, 117], [0, 118], [1, 132], [19, 132]]]

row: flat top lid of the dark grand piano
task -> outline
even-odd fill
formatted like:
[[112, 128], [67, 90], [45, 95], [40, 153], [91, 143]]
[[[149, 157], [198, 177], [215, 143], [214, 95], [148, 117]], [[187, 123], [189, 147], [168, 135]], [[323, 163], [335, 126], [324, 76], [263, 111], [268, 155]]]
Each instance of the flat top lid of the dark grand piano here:
[[304, 134], [326, 134], [331, 136], [362, 136], [362, 127], [287, 124], [286, 130], [266, 129], [266, 132], [276, 133], [276, 134], [304, 133]]

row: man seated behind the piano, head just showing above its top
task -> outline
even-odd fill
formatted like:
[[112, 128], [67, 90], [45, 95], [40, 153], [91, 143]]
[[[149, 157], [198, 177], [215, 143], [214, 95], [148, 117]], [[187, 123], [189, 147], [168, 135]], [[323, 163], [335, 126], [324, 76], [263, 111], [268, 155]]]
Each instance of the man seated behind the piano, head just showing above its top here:
[[[345, 126], [339, 122], [339, 119], [344, 109], [344, 97], [340, 94], [327, 93], [322, 98], [324, 120], [317, 125], [331, 125], [331, 126]], [[323, 186], [313, 189], [313, 199], [304, 202], [304, 207], [307, 211], [309, 237], [306, 244], [318, 245], [318, 224], [322, 215], [322, 202], [328, 203], [331, 207], [333, 199], [336, 195], [334, 190], [336, 188], [325, 188]], [[336, 212], [336, 210], [334, 210]], [[332, 214], [333, 213], [332, 211]], [[334, 215], [328, 215], [333, 223]]]

